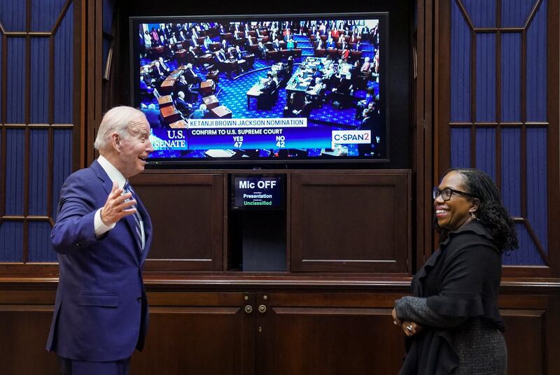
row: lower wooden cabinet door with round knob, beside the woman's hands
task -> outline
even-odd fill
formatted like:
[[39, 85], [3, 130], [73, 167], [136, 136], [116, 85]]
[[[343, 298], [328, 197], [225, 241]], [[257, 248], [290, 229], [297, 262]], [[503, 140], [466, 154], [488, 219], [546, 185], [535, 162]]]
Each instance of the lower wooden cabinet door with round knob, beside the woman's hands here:
[[398, 297], [257, 293], [256, 373], [397, 374], [405, 351], [402, 331], [391, 317]]

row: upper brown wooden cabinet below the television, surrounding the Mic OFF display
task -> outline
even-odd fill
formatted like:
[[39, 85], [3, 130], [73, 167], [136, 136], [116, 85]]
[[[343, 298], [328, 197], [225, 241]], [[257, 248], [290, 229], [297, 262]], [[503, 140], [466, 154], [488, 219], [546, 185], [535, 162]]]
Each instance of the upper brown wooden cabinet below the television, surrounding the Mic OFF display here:
[[235, 173], [134, 178], [156, 228], [146, 271], [410, 274], [409, 170], [249, 171], [281, 174], [286, 208], [243, 212], [230, 209]]

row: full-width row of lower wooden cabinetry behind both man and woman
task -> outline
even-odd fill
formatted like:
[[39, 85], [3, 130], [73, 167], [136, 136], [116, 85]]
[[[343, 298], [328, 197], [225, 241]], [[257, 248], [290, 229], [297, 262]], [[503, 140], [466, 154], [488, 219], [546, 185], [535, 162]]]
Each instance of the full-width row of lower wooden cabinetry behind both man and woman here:
[[[131, 374], [398, 372], [404, 344], [391, 309], [407, 289], [402, 283], [325, 282], [311, 288], [294, 283], [283, 287], [277, 279], [274, 285], [148, 283], [148, 337], [144, 351], [133, 355]], [[54, 287], [0, 283], [0, 374], [57, 374], [56, 355], [44, 349]], [[505, 285], [500, 311], [508, 374], [560, 373], [558, 288], [551, 286], [556, 292], [547, 293]]]

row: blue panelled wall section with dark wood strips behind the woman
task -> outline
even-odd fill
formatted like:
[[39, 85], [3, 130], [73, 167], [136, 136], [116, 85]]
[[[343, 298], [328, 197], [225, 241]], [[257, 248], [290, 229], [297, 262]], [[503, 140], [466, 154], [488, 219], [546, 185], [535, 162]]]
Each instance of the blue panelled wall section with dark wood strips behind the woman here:
[[[537, 0], [460, 0], [466, 17], [458, 1], [450, 1], [451, 167], [486, 171], [501, 187], [511, 215], [519, 218], [519, 250], [505, 255], [504, 264], [543, 265], [545, 259], [541, 253], [545, 257], [548, 254], [547, 1], [539, 4], [532, 19], [529, 16]], [[505, 27], [518, 30], [504, 31]], [[493, 30], [489, 32], [489, 28]], [[522, 55], [523, 32], [526, 32], [526, 56]], [[473, 34], [474, 61], [470, 56]], [[522, 93], [524, 58], [526, 92]], [[473, 83], [472, 74], [475, 75]], [[472, 165], [472, 153], [475, 153], [475, 165]], [[525, 166], [521, 165], [522, 160], [526, 160]], [[526, 176], [521, 176], [523, 167]]]

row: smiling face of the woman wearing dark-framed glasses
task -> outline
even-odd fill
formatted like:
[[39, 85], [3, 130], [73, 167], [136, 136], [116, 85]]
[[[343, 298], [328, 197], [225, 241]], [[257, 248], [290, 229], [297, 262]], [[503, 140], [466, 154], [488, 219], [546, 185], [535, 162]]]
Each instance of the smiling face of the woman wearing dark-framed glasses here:
[[[454, 171], [449, 172], [442, 178], [442, 182], [437, 187], [440, 191], [449, 187], [453, 190], [461, 192], [469, 192], [465, 187], [465, 176], [458, 174]], [[454, 231], [467, 222], [472, 220], [471, 211], [476, 211], [476, 205], [470, 197], [453, 193], [448, 201], [444, 201], [441, 194], [437, 197], [433, 206], [435, 208], [435, 217], [437, 218], [437, 225], [448, 231]]]

